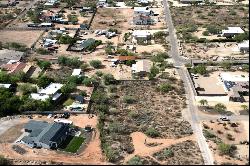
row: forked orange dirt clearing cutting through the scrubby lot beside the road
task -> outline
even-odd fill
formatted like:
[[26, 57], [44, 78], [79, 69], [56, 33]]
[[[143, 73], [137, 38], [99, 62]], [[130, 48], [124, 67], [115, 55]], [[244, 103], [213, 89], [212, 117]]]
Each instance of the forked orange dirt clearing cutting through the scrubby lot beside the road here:
[[[125, 162], [130, 160], [135, 155], [150, 156], [153, 153], [158, 152], [158, 151], [160, 151], [160, 150], [162, 150], [170, 145], [181, 143], [181, 142], [186, 141], [186, 140], [195, 141], [194, 135], [191, 135], [188, 137], [183, 137], [180, 139], [153, 139], [153, 138], [147, 137], [145, 134], [143, 134], [141, 132], [134, 132], [130, 136], [132, 137], [135, 151], [133, 154], [131, 154], [125, 158]], [[161, 145], [158, 145], [156, 147], [147, 147], [145, 145], [145, 139], [146, 139], [147, 144], [148, 143], [160, 143]]]

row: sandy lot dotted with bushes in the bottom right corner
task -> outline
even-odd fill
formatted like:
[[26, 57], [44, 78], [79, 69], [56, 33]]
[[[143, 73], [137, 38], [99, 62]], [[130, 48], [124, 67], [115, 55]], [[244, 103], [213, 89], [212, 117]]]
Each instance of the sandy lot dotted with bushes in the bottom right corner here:
[[[246, 164], [248, 162], [249, 145], [241, 144], [241, 141], [248, 140], [244, 126], [239, 122], [203, 122], [205, 128], [205, 137], [214, 154], [217, 164]], [[207, 134], [206, 134], [207, 133]], [[210, 133], [210, 134], [209, 134]], [[221, 155], [219, 144], [223, 142], [229, 145], [236, 145], [237, 149], [233, 155]]]

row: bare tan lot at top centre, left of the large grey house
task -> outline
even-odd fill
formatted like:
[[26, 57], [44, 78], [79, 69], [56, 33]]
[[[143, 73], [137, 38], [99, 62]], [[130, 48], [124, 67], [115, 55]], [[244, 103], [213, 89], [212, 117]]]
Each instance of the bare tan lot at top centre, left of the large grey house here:
[[99, 8], [92, 22], [91, 29], [115, 28], [128, 30], [133, 19], [133, 9]]

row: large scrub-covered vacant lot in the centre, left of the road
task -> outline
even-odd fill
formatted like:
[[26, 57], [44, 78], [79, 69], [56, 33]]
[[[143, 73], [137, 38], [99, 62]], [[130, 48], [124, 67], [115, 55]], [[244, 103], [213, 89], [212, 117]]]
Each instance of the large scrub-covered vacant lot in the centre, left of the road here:
[[[123, 163], [125, 157], [134, 152], [131, 139], [134, 132], [165, 139], [192, 135], [190, 124], [183, 120], [181, 114], [185, 107], [182, 82], [170, 80], [124, 81], [117, 88], [108, 88], [112, 92], [109, 94], [111, 108], [104, 120], [101, 140], [105, 142], [104, 151], [112, 151], [110, 161]], [[174, 85], [173, 90], [165, 94], [157, 91], [163, 83]], [[93, 111], [101, 108], [97, 105], [92, 107]]]

